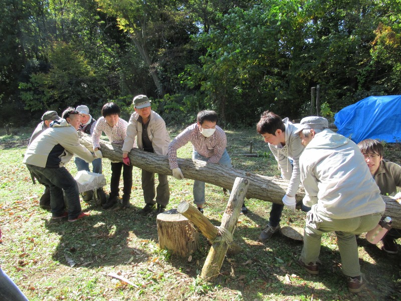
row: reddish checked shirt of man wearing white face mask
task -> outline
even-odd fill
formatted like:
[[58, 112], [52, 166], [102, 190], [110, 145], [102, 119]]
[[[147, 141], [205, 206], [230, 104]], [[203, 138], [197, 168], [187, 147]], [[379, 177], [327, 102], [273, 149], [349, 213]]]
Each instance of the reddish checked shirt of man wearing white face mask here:
[[188, 141], [192, 143], [193, 149], [200, 156], [209, 158], [209, 163], [219, 163], [226, 150], [227, 137], [224, 130], [216, 125], [216, 131], [210, 137], [205, 137], [199, 131], [197, 123], [189, 125], [168, 145], [168, 162], [170, 169], [178, 167], [177, 149], [184, 146]]

